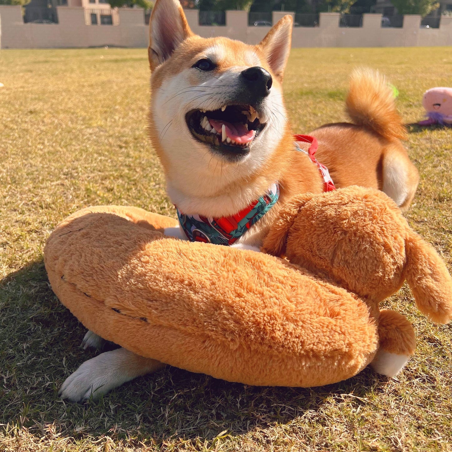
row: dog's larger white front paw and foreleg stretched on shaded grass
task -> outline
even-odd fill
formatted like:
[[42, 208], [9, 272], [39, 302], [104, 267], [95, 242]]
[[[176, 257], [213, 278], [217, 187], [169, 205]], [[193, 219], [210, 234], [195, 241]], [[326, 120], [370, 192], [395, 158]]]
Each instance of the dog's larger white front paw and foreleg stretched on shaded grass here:
[[66, 378], [58, 395], [73, 402], [90, 397], [97, 400], [126, 381], [156, 372], [163, 367], [165, 364], [160, 361], [143, 358], [125, 348], [117, 348], [85, 361]]

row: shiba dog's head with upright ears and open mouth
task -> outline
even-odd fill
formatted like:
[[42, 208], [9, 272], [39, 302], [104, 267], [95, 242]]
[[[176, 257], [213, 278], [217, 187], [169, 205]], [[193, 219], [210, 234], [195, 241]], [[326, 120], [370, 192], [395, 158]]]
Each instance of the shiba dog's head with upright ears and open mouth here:
[[281, 81], [292, 18], [250, 46], [195, 36], [179, 1], [157, 0], [150, 30], [151, 138], [167, 177], [195, 167], [225, 182], [253, 174], [287, 127]]

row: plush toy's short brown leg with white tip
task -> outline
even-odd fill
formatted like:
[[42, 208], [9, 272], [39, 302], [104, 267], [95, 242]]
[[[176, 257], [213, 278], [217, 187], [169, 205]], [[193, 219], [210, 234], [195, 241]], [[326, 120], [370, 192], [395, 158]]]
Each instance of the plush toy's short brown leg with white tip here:
[[386, 377], [394, 377], [416, 349], [413, 327], [399, 312], [382, 310], [378, 319], [378, 335], [380, 348], [371, 366]]

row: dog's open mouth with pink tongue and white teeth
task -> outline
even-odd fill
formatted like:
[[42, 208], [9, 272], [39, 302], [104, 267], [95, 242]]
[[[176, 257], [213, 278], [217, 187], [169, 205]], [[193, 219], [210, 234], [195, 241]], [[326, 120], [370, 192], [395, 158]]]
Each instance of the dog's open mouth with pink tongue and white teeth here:
[[222, 154], [246, 155], [265, 127], [251, 105], [228, 105], [218, 110], [192, 110], [185, 117], [193, 137]]

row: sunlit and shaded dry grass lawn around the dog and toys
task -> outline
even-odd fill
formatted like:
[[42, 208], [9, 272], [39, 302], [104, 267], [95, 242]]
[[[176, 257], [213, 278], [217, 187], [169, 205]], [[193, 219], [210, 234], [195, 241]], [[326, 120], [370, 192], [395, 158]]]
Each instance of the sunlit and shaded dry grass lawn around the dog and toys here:
[[[293, 50], [284, 84], [296, 132], [345, 119], [359, 65], [388, 76], [412, 123], [426, 89], [451, 85], [452, 48]], [[452, 450], [452, 328], [420, 316], [406, 286], [385, 305], [413, 322], [418, 349], [391, 380], [365, 369], [321, 388], [260, 388], [167, 368], [96, 403], [60, 400], [95, 353], [49, 287], [50, 231], [94, 204], [174, 215], [146, 137], [147, 52], [3, 50], [0, 82], [0, 451]], [[451, 268], [452, 129], [410, 132], [420, 184], [407, 217]]]

